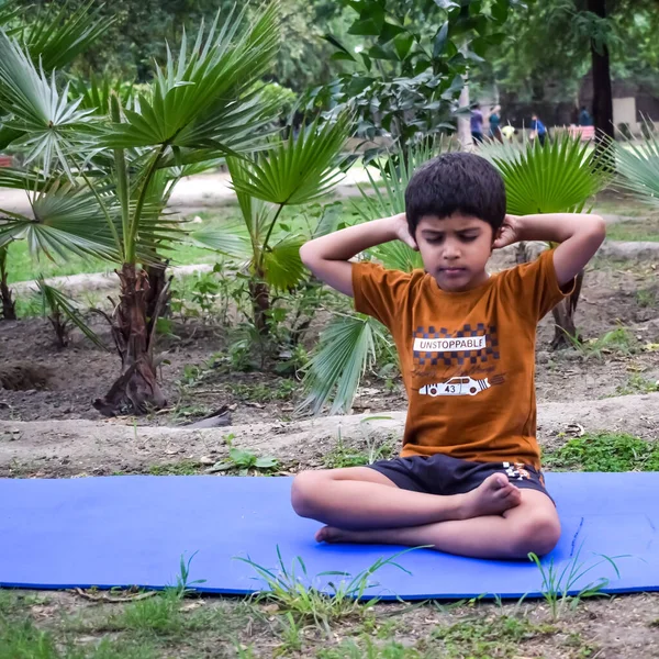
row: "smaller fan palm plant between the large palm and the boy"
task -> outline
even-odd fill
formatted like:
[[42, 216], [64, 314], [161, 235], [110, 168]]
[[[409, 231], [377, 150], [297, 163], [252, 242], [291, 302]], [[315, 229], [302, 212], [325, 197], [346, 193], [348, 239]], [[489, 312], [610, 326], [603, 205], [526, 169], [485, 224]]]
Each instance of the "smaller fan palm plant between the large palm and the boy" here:
[[228, 157], [247, 241], [216, 230], [192, 234], [203, 246], [248, 264], [254, 323], [261, 336], [268, 334], [270, 289], [289, 290], [306, 277], [299, 253], [309, 236], [282, 224], [281, 213], [317, 201], [333, 189], [343, 176], [340, 153], [349, 131], [348, 114], [322, 125], [319, 118], [297, 137], [272, 143], [252, 160]]

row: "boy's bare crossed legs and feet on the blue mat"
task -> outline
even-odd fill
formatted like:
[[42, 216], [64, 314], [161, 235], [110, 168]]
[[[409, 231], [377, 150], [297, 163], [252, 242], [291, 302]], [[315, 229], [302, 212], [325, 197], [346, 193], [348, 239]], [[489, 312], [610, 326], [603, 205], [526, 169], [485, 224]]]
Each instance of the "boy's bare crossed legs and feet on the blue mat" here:
[[327, 524], [319, 541], [432, 545], [476, 558], [526, 558], [556, 546], [560, 523], [551, 500], [494, 473], [476, 490], [438, 496], [399, 489], [367, 467], [305, 471], [292, 504]]

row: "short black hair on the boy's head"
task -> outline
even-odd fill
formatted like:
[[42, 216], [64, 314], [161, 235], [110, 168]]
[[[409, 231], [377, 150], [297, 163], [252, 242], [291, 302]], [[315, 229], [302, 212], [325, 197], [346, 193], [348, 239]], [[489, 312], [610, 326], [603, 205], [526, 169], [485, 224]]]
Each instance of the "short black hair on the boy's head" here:
[[474, 154], [450, 153], [422, 165], [405, 190], [405, 213], [412, 235], [424, 215], [455, 212], [487, 222], [496, 235], [505, 217], [505, 187], [493, 165]]

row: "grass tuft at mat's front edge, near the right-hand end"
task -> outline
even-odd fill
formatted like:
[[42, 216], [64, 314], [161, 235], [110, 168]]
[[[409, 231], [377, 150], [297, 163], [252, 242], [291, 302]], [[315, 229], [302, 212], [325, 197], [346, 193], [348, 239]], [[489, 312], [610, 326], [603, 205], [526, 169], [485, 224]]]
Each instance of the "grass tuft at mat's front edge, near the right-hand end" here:
[[565, 613], [566, 608], [574, 610], [579, 603], [587, 597], [607, 597], [603, 589], [608, 585], [608, 579], [600, 577], [577, 591], [576, 594], [570, 594], [576, 591], [577, 584], [591, 570], [607, 562], [615, 570], [616, 577], [619, 579], [621, 573], [614, 559], [626, 558], [624, 556], [614, 556], [613, 558], [597, 554], [601, 558], [597, 562], [585, 567], [585, 561], [580, 561], [581, 547], [572, 560], [559, 572], [554, 563], [554, 559], [545, 567], [540, 559], [535, 554], [528, 555], [528, 560], [533, 561], [543, 577], [541, 592], [545, 601], [549, 605], [551, 618], [556, 622]]

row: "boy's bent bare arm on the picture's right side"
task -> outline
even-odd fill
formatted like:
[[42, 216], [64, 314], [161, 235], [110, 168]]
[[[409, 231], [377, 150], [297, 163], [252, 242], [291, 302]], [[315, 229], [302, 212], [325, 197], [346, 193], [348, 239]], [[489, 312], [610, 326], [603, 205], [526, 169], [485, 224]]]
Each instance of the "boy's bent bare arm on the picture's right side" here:
[[554, 268], [559, 286], [565, 286], [583, 270], [605, 236], [606, 224], [600, 215], [588, 213], [506, 215], [494, 247], [503, 247], [518, 241], [560, 243], [554, 253]]

